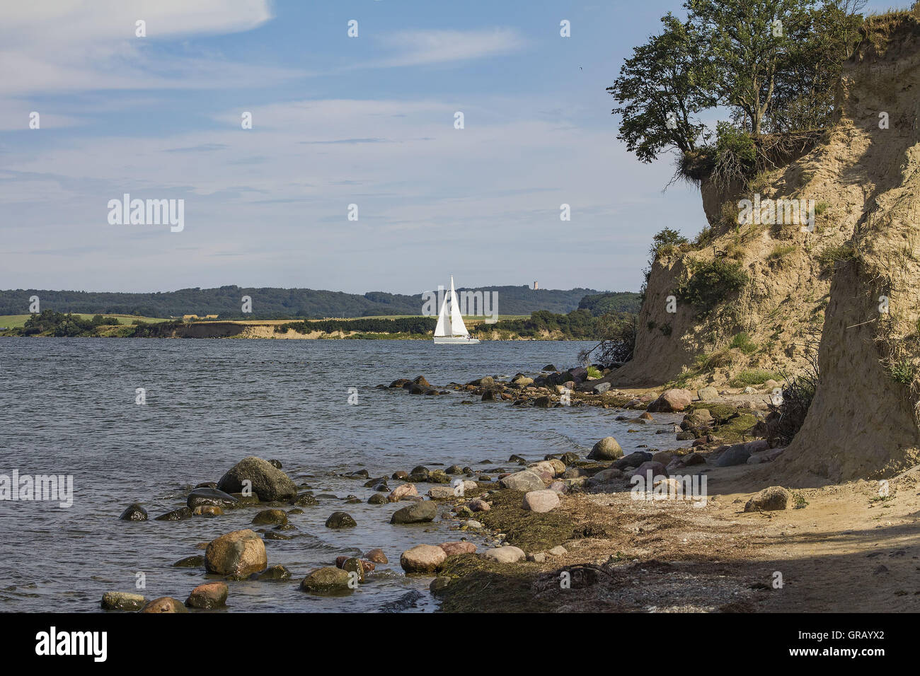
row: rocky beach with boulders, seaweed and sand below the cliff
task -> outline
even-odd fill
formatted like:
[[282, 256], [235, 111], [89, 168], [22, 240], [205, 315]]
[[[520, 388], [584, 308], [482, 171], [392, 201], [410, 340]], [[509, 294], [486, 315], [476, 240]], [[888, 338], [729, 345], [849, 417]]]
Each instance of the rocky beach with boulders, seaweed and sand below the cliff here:
[[[189, 589], [154, 599], [112, 589], [102, 595], [100, 606], [143, 613], [233, 610], [236, 585], [246, 584], [251, 594], [253, 581], [258, 582], [255, 593], [265, 589], [282, 597], [336, 599], [362, 593], [379, 576], [405, 575], [416, 580], [416, 589], [381, 610], [418, 609], [428, 596], [432, 609], [445, 612], [786, 607], [792, 595], [772, 586], [774, 571], [768, 569], [776, 564], [759, 557], [765, 552], [776, 556], [777, 548], [792, 556], [801, 546], [798, 538], [771, 533], [775, 523], [796, 529], [805, 525], [799, 514], [805, 521], [825, 519], [824, 503], [833, 492], [784, 487], [750, 495], [745, 491], [746, 484], [757, 481], [750, 475], [755, 466], [762, 468], [783, 453], [754, 438], [757, 426], [764, 427], [770, 389], [672, 389], [656, 395], [598, 387], [602, 380], [589, 379], [584, 369], [575, 368], [517, 373], [505, 380], [483, 376], [440, 389], [424, 376], [379, 387], [396, 397], [456, 391], [464, 395], [460, 403], [472, 407], [504, 402], [508, 407], [612, 408], [621, 411], [616, 418], [629, 426], [655, 428], [662, 440], [684, 445], [659, 451], [643, 443], [632, 449], [630, 429], [619, 441], [612, 436], [599, 439], [583, 457], [571, 452], [540, 458], [512, 454], [502, 464], [486, 460], [466, 466], [432, 457], [427, 464], [381, 475], [355, 469], [341, 475], [354, 486], [353, 494], [340, 500], [341, 509], [330, 512], [324, 498], [334, 496], [287, 475], [276, 460], [249, 456], [216, 480], [193, 487], [184, 504], [173, 510], [148, 514], [143, 504], [125, 507], [119, 518], [132, 521], [134, 529], [143, 529], [149, 519], [207, 520], [209, 530], [220, 534], [207, 542], [189, 542], [189, 551], [199, 553], [172, 564], [187, 570]], [[647, 476], [648, 485], [642, 483]], [[895, 483], [908, 487], [917, 480], [905, 475]], [[684, 487], [696, 489], [684, 493]], [[845, 503], [864, 499], [871, 507], [869, 491], [856, 484], [835, 491], [834, 499], [838, 504], [842, 498]], [[913, 505], [911, 498], [901, 502], [884, 505], [886, 510], [898, 508], [886, 516]], [[357, 508], [351, 506], [358, 504], [374, 506], [373, 516], [356, 518]], [[375, 540], [341, 552], [330, 549], [327, 565], [304, 569], [285, 553], [276, 553], [275, 544], [302, 534], [297, 521], [305, 511], [321, 511], [318, 518], [325, 518], [325, 529], [353, 529], [359, 520], [371, 518], [408, 533], [423, 530], [426, 537], [411, 546]], [[222, 530], [221, 522], [231, 515], [234, 530]], [[248, 527], [237, 528], [240, 523]], [[907, 556], [896, 543], [891, 546], [889, 551], [883, 542], [875, 543], [865, 554], [867, 564], [884, 556], [885, 579], [896, 577], [891, 567], [906, 561], [889, 559]], [[798, 581], [794, 573], [788, 577], [790, 583]], [[904, 595], [900, 603], [914, 608], [915, 598]], [[811, 609], [841, 610], [854, 602], [836, 595], [816, 601]]]

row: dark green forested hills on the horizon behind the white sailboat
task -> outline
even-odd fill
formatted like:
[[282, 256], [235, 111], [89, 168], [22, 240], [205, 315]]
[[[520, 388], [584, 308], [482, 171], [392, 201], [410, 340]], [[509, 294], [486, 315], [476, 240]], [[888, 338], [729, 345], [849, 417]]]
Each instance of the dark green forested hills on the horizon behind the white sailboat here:
[[[467, 291], [462, 289], [459, 291]], [[528, 286], [489, 286], [468, 291], [498, 292], [501, 315], [530, 315], [537, 310], [566, 314], [579, 307], [592, 289], [540, 289]], [[605, 295], [605, 294], [604, 294]], [[638, 307], [637, 293], [628, 296]], [[40, 309], [63, 313], [123, 314], [152, 317], [220, 315], [220, 318], [322, 318], [369, 315], [420, 315], [421, 294], [386, 292], [343, 293], [314, 289], [253, 289], [222, 286], [219, 289], [180, 289], [175, 292], [121, 293], [75, 292], [40, 289], [0, 291], [0, 315], [29, 313], [29, 297], [38, 296]], [[242, 297], [252, 299], [252, 313], [243, 315]]]

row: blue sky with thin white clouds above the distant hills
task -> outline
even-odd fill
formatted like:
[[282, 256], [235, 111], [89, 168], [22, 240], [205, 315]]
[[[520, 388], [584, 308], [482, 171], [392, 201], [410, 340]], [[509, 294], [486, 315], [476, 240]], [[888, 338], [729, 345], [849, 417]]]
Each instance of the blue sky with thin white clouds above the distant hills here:
[[[0, 289], [637, 291], [651, 236], [706, 220], [605, 87], [680, 6], [5, 2]], [[110, 223], [125, 193], [181, 230]]]

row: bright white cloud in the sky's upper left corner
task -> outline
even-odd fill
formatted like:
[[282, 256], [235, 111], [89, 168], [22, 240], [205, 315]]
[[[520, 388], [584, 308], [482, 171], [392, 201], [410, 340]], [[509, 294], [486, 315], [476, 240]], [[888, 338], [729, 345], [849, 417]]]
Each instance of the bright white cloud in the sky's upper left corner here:
[[[2, 3], [2, 93], [264, 85], [299, 73], [212, 56], [164, 58], [149, 47], [157, 40], [250, 30], [271, 17], [269, 0]], [[145, 38], [134, 35], [138, 19], [146, 22]]]

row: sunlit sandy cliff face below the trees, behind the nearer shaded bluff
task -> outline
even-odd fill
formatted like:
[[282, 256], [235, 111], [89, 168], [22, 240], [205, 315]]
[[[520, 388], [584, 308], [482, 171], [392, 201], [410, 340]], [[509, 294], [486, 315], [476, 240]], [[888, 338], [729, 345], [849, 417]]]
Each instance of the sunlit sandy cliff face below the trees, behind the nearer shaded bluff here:
[[[834, 327], [832, 330], [839, 330], [836, 322], [840, 313], [863, 312], [864, 308], [845, 309], [847, 303], [853, 302], [845, 302], [839, 294], [858, 291], [868, 298], [866, 284], [880, 275], [881, 262], [890, 259], [892, 252], [913, 246], [907, 243], [910, 227], [902, 223], [909, 220], [908, 216], [899, 216], [898, 223], [888, 226], [882, 219], [891, 211], [891, 206], [886, 205], [908, 200], [906, 196], [912, 191], [916, 194], [912, 172], [920, 97], [916, 88], [920, 77], [917, 26], [916, 17], [899, 15], [881, 30], [883, 39], [874, 34], [845, 64], [834, 125], [810, 151], [797, 153], [797, 158], [786, 166], [762, 174], [743, 189], [716, 188], [704, 182], [701, 192], [711, 233], [705, 244], [690, 250], [683, 247], [684, 250], [667, 251], [652, 265], [646, 303], [639, 315], [635, 360], [620, 369], [614, 384], [650, 386], [680, 378], [690, 386], [720, 385], [755, 369], [777, 376], [796, 375], [808, 367], [809, 355], [817, 351], [826, 333], [822, 330], [825, 312], [833, 313], [827, 317], [827, 327]], [[873, 46], [873, 41], [879, 46]], [[880, 46], [882, 43], [884, 46]], [[888, 114], [888, 129], [880, 129], [881, 112]], [[815, 206], [813, 230], [803, 228], [799, 222], [738, 225], [738, 202], [753, 201], [755, 195], [761, 201], [797, 200], [803, 205], [811, 201]], [[908, 205], [900, 208], [909, 212]], [[874, 224], [871, 235], [867, 233], [867, 223]], [[683, 224], [675, 223], [674, 227], [680, 225]], [[882, 236], [876, 232], [881, 228], [885, 229]], [[862, 260], [861, 250], [867, 248], [867, 236], [873, 246], [880, 247], [880, 252], [875, 255], [877, 264], [863, 269], [858, 261]], [[886, 243], [889, 239], [891, 242]], [[860, 250], [857, 260], [851, 258], [848, 245]], [[920, 255], [920, 251], [915, 253]], [[705, 316], [680, 301], [677, 312], [668, 313], [667, 297], [679, 296], [677, 286], [695, 262], [716, 258], [739, 263], [749, 274], [750, 283], [742, 292], [729, 294]], [[859, 269], [863, 271], [857, 272]], [[847, 276], [859, 274], [863, 278], [845, 286]], [[832, 281], [834, 289], [839, 290], [836, 294]], [[920, 283], [914, 288], [920, 290]], [[878, 299], [879, 295], [880, 292], [874, 297]], [[897, 307], [891, 316], [906, 313], [901, 309], [906, 302], [892, 300], [892, 307]], [[906, 324], [911, 316], [905, 315]], [[867, 316], [862, 321], [870, 319]], [[858, 322], [845, 326], [854, 324]], [[853, 329], [847, 329], [853, 338], [846, 338], [846, 348], [832, 347], [834, 338], [827, 338], [820, 355], [822, 369], [834, 370], [832, 353], [836, 349], [853, 353], [849, 358], [853, 360], [852, 367], [867, 360], [867, 352], [853, 350], [857, 345], [877, 343], [873, 330], [882, 324], [877, 317], [875, 323], [861, 329], [865, 335], [858, 338]], [[667, 332], [661, 331], [662, 326], [668, 327]], [[746, 349], [732, 349], [732, 339], [741, 333], [748, 338]], [[878, 352], [874, 354], [878, 362]], [[845, 362], [843, 357], [840, 360]], [[853, 386], [860, 377], [858, 373], [849, 375]], [[828, 373], [827, 382], [834, 377]], [[887, 382], [880, 379], [877, 386], [882, 385], [894, 383], [891, 378]], [[829, 401], [838, 401], [835, 396]], [[857, 395], [854, 400], [858, 398]], [[830, 414], [826, 405], [814, 408], [816, 416], [822, 410], [825, 417]], [[827, 425], [834, 427], [834, 421]]]

